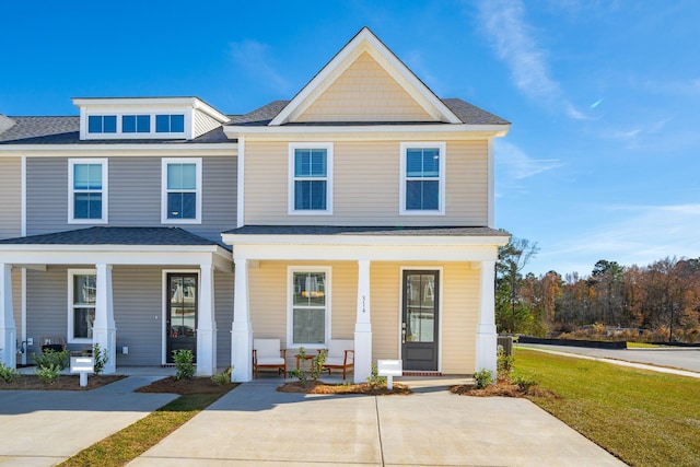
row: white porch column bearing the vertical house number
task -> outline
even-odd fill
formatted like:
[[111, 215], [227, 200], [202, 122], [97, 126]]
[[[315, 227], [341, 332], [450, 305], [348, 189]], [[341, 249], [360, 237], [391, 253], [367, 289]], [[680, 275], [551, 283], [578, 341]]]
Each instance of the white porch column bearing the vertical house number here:
[[354, 324], [354, 382], [372, 374], [372, 322], [370, 319], [370, 260], [358, 261], [358, 311]]

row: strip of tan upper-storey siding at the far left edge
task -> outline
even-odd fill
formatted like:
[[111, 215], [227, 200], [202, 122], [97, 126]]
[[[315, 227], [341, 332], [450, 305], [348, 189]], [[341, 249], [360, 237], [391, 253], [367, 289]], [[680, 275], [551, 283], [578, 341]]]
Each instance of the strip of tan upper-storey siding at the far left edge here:
[[0, 159], [0, 238], [22, 235], [22, 160]]

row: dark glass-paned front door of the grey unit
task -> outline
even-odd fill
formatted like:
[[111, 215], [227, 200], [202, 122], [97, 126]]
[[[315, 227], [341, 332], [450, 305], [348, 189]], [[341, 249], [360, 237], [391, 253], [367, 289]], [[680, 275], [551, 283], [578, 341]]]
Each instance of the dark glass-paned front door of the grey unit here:
[[188, 349], [197, 361], [197, 275], [167, 275], [166, 358], [174, 363], [173, 351]]

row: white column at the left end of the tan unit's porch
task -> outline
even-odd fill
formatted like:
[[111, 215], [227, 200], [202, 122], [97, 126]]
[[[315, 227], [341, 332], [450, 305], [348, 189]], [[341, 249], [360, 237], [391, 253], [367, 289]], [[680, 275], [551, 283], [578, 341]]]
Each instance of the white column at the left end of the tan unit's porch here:
[[231, 325], [231, 381], [245, 383], [253, 380], [253, 330], [248, 301], [248, 260], [234, 258], [235, 279], [233, 324]]

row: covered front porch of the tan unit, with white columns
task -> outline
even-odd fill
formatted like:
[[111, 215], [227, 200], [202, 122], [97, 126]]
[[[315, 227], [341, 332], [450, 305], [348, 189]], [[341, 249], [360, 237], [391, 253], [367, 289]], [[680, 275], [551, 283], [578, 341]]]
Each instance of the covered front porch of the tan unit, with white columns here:
[[[424, 373], [495, 372], [493, 273], [508, 234], [485, 227], [244, 226], [222, 236], [235, 264], [235, 381], [253, 378], [254, 337], [280, 339], [288, 359], [299, 347], [352, 339], [355, 383], [378, 359], [408, 361], [408, 345], [429, 340], [416, 337], [407, 319], [406, 291], [417, 277], [427, 278], [418, 303], [435, 302], [435, 363]], [[323, 325], [308, 330], [298, 323], [318, 311]]]

